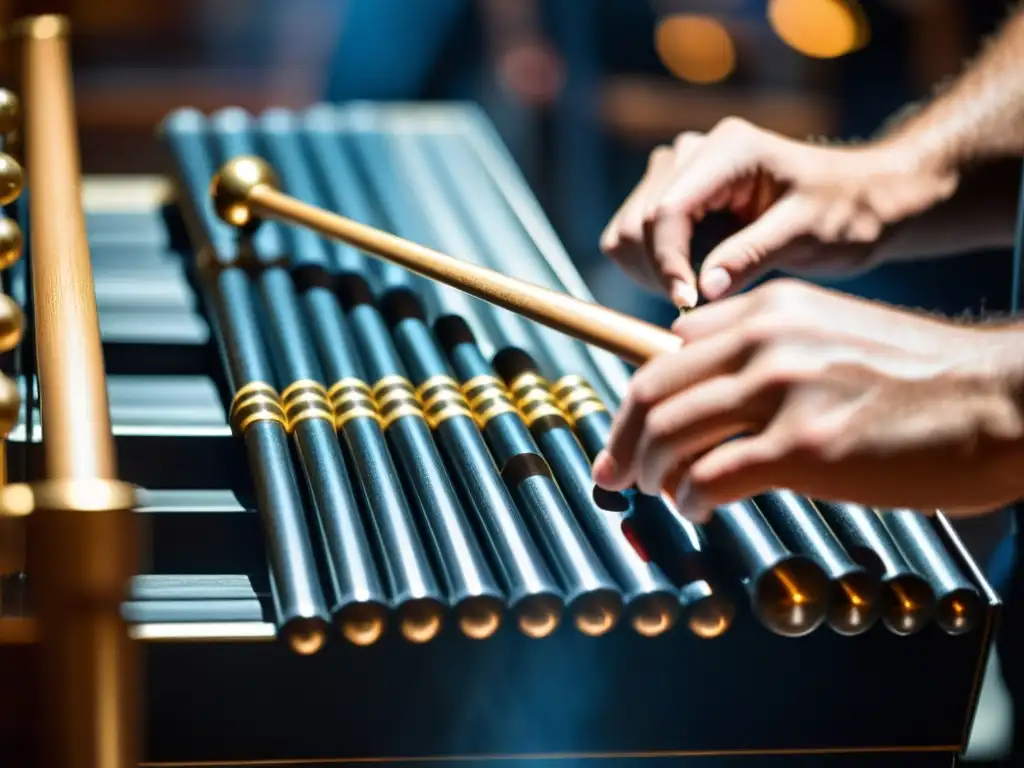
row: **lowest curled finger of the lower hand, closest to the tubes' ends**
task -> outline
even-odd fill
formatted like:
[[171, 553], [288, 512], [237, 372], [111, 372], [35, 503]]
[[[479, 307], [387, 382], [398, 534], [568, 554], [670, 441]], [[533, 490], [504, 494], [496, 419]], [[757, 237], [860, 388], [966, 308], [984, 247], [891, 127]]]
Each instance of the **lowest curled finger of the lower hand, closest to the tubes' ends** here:
[[786, 456], [771, 432], [737, 437], [690, 466], [676, 492], [680, 514], [703, 521], [715, 507], [786, 487]]

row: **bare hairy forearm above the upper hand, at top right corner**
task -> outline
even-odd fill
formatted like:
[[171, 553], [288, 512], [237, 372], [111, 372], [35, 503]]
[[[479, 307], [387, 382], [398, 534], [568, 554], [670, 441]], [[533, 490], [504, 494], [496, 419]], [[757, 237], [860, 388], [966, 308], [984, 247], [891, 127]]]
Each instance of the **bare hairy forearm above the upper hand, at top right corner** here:
[[951, 172], [1024, 156], [1024, 9], [1018, 7], [978, 58], [883, 142]]

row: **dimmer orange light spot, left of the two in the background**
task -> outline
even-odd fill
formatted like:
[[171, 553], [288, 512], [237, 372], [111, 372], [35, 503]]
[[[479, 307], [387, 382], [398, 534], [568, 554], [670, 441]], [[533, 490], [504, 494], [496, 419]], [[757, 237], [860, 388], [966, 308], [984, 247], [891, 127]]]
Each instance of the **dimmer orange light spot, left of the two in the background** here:
[[669, 72], [690, 83], [718, 83], [736, 68], [732, 38], [711, 16], [669, 16], [657, 26], [654, 48]]

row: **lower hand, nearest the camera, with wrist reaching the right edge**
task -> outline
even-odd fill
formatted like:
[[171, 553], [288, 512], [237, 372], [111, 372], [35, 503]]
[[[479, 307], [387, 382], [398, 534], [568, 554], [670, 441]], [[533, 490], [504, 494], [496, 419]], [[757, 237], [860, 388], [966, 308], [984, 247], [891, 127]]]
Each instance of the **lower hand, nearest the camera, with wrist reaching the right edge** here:
[[[594, 479], [717, 505], [783, 487], [878, 507], [1024, 497], [1024, 325], [954, 325], [773, 281], [680, 317]], [[734, 439], [729, 439], [734, 438]]]

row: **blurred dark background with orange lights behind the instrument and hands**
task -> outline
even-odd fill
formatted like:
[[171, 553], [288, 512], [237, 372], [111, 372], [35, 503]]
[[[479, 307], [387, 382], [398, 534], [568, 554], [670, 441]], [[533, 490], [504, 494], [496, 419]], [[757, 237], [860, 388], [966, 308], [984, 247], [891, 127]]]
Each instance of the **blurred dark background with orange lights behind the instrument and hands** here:
[[[795, 137], [868, 137], [957, 73], [1005, 0], [0, 0], [0, 23], [60, 12], [75, 31], [85, 171], [163, 169], [171, 110], [468, 99], [512, 151], [606, 304], [674, 310], [598, 251], [648, 153], [735, 115]], [[1011, 254], [886, 267], [840, 286], [947, 314], [1005, 312]], [[968, 526], [970, 528], [970, 526]], [[1008, 515], [965, 531], [998, 589]], [[938, 671], [937, 671], [938, 675]], [[938, 683], [937, 683], [938, 684]], [[1024, 705], [1022, 705], [1024, 708]], [[972, 753], [1005, 752], [989, 670]]]

